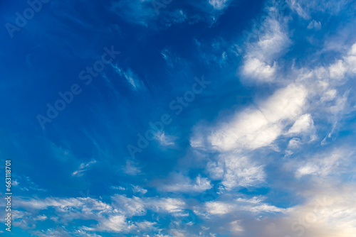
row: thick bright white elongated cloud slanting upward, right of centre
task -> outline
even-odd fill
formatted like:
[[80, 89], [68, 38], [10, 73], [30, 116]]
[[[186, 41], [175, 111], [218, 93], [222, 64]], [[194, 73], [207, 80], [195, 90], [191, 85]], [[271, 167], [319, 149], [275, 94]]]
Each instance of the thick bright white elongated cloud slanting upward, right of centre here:
[[[221, 151], [271, 145], [281, 135], [285, 122], [295, 121], [303, 111], [307, 94], [307, 90], [297, 84], [278, 90], [258, 109], [246, 109], [230, 121], [213, 128], [208, 136], [209, 145]], [[191, 143], [201, 144], [194, 140]]]

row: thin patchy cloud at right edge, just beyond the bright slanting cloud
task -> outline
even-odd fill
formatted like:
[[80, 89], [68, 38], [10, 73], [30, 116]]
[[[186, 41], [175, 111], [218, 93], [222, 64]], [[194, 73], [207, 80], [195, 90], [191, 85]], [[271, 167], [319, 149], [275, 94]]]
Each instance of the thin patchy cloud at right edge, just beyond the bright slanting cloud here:
[[[316, 120], [325, 120], [329, 123], [330, 132], [321, 142], [322, 145], [328, 143], [328, 138], [332, 138], [337, 131], [338, 123], [344, 114], [352, 111], [350, 108], [350, 89], [342, 87], [347, 80], [355, 75], [356, 70], [356, 44], [347, 50], [341, 59], [332, 62], [326, 67], [315, 67], [313, 69], [301, 68], [290, 72], [290, 79], [308, 89], [308, 101], [305, 104], [305, 111]], [[311, 122], [311, 121], [310, 121]], [[313, 139], [316, 138], [313, 137]], [[312, 140], [313, 140], [312, 139]]]

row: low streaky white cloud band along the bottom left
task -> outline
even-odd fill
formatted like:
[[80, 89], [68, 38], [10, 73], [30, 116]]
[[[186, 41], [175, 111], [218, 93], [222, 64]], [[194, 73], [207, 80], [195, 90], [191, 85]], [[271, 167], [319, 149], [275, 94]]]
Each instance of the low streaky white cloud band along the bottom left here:
[[[51, 219], [58, 225], [68, 224], [74, 219], [95, 220], [98, 222], [95, 226], [77, 226], [79, 230], [86, 231], [104, 231], [114, 233], [132, 233], [137, 230], [147, 230], [153, 228], [155, 222], [131, 221], [132, 216], [143, 216], [150, 209], [157, 213], [176, 215], [182, 213], [186, 204], [181, 199], [174, 198], [140, 198], [126, 197], [125, 195], [115, 194], [112, 197], [112, 203], [106, 204], [97, 199], [87, 198], [53, 198], [46, 199], [16, 199], [16, 205], [19, 208], [31, 211], [14, 211], [16, 222], [28, 226], [29, 221], [43, 221]], [[46, 210], [46, 216], [38, 216], [38, 211]], [[79, 232], [78, 232], [79, 233]], [[40, 234], [40, 233], [38, 233]], [[41, 235], [46, 234], [41, 233]], [[89, 236], [89, 235], [88, 235]], [[95, 236], [95, 235], [93, 235]]]

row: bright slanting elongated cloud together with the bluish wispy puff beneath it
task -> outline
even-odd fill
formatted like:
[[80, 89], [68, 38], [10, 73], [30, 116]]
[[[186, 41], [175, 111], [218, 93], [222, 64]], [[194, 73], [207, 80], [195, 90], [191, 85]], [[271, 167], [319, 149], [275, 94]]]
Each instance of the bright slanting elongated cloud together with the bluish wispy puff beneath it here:
[[261, 184], [265, 179], [263, 165], [241, 152], [272, 145], [278, 136], [283, 135], [288, 124], [295, 121], [298, 122], [292, 131], [304, 131], [304, 120], [309, 116], [300, 115], [307, 95], [305, 87], [290, 84], [261, 102], [258, 109], [241, 111], [213, 128], [196, 128], [191, 138], [192, 147], [220, 152], [216, 162], [210, 161], [206, 165], [211, 179], [221, 180], [228, 190]]

